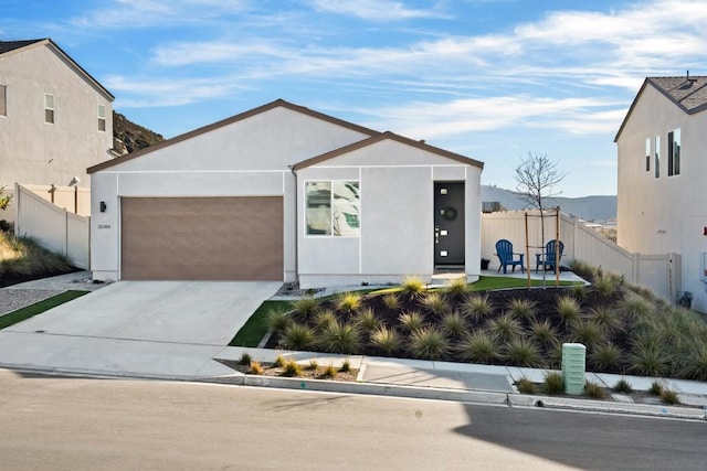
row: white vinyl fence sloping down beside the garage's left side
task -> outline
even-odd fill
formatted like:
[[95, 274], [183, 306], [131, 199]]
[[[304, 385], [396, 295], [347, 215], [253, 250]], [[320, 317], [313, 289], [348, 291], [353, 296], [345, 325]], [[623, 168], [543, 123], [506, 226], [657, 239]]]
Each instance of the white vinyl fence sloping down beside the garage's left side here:
[[27, 186], [14, 186], [14, 234], [32, 237], [42, 247], [65, 255], [72, 265], [91, 266], [91, 217], [52, 204]]

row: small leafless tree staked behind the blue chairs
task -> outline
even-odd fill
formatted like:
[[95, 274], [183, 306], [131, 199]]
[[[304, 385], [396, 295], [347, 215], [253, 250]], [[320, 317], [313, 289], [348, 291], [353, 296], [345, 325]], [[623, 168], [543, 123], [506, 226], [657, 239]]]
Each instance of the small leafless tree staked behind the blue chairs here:
[[516, 168], [516, 194], [532, 207], [540, 211], [540, 237], [545, 245], [545, 206], [547, 197], [557, 196], [560, 192], [555, 186], [567, 174], [558, 169], [558, 162], [548, 159], [547, 154], [528, 152], [527, 159]]

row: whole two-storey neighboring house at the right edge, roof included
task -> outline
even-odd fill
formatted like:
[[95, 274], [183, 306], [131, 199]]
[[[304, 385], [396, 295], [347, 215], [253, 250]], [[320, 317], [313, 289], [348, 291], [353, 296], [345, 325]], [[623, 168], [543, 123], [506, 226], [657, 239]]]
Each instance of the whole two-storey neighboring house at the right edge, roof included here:
[[679, 254], [672, 276], [707, 312], [707, 76], [646, 78], [615, 142], [619, 245]]

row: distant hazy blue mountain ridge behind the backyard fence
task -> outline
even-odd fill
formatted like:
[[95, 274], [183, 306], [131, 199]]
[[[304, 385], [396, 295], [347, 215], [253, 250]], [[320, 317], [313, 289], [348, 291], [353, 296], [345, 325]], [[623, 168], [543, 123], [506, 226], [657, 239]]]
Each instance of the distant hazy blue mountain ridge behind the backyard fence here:
[[[498, 202], [506, 210], [527, 210], [530, 206], [514, 191], [498, 186], [482, 185], [483, 202]], [[583, 197], [548, 197], [542, 205], [546, 207], [560, 206], [560, 211], [585, 221], [603, 222], [616, 218], [616, 196], [583, 196]]]

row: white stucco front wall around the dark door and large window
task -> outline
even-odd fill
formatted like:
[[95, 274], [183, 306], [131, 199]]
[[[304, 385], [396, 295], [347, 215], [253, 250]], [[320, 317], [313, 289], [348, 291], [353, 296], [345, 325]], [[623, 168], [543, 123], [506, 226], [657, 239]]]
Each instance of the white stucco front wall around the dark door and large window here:
[[[358, 237], [306, 234], [307, 181], [360, 183]], [[464, 181], [466, 274], [481, 260], [481, 169], [383, 140], [297, 171], [302, 287], [395, 282], [434, 274], [434, 182]]]

